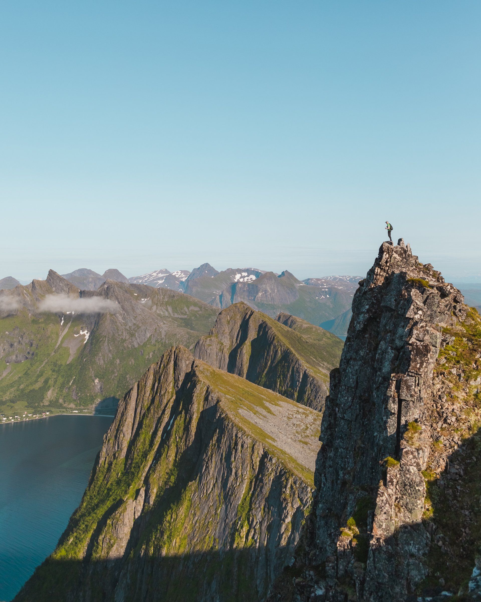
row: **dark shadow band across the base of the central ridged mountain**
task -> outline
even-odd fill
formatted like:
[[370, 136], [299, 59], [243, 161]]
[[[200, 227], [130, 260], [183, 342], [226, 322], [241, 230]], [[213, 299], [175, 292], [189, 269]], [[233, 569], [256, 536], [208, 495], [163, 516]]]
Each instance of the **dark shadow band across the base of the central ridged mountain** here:
[[49, 558], [13, 602], [262, 602], [269, 583], [257, 580], [258, 565], [268, 563], [268, 554], [253, 547], [146, 554], [127, 563]]

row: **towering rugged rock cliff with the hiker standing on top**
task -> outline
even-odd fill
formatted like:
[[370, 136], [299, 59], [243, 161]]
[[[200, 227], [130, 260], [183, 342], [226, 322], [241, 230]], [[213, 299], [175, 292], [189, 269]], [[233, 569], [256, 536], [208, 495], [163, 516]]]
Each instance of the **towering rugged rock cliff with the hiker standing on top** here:
[[309, 529], [272, 600], [405, 601], [447, 585], [457, 593], [476, 538], [466, 541], [472, 514], [443, 471], [458, 455], [459, 479], [469, 470], [461, 458], [471, 462], [461, 448], [480, 418], [479, 315], [402, 240], [382, 245], [352, 312], [331, 372]]

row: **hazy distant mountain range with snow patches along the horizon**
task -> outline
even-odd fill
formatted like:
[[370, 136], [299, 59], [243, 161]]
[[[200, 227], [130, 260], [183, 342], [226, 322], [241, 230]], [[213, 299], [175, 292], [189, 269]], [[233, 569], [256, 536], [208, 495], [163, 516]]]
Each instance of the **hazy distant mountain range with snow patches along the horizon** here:
[[[280, 312], [286, 312], [331, 330], [342, 338], [346, 335], [351, 317], [352, 297], [361, 279], [359, 276], [326, 276], [300, 281], [287, 270], [276, 274], [244, 267], [219, 272], [208, 263], [199, 265], [192, 272], [170, 272], [162, 268], [128, 279], [113, 268], [102, 275], [81, 268], [62, 277], [84, 291], [96, 291], [106, 280], [168, 288], [191, 295], [218, 309], [243, 301], [272, 318]], [[17, 285], [19, 282], [11, 276], [0, 281], [0, 288], [5, 290]]]

